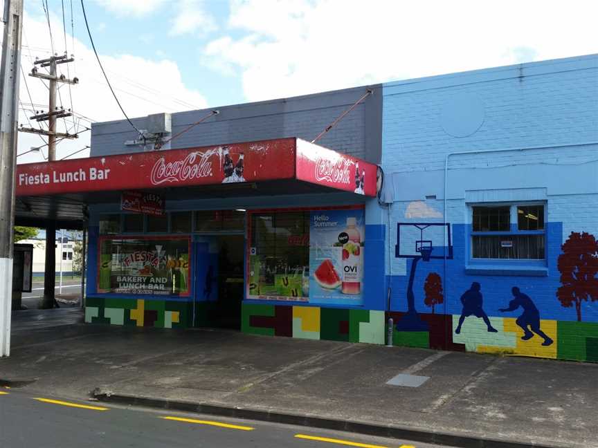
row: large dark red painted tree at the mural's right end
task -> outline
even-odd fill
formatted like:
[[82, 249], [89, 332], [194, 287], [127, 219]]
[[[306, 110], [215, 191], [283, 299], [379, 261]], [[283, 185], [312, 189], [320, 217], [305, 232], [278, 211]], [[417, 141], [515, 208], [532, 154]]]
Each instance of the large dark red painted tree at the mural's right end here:
[[562, 286], [556, 297], [565, 308], [575, 305], [581, 321], [581, 302], [598, 300], [598, 241], [592, 234], [571, 232], [561, 249], [557, 266]]

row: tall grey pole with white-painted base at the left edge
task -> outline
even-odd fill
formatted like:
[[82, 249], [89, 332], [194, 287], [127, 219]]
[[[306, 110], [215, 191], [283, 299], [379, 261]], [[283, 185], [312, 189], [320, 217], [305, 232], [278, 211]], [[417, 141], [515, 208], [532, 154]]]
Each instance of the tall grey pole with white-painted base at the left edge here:
[[0, 356], [10, 355], [12, 239], [23, 0], [4, 1], [0, 66]]

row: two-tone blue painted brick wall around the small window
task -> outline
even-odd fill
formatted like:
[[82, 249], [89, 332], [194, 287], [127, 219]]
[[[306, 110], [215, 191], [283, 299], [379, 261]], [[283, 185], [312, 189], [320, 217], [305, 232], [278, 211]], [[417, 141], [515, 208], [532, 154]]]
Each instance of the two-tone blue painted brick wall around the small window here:
[[[598, 237], [598, 55], [384, 84], [382, 142], [393, 196], [388, 247], [394, 251], [397, 222], [452, 225], [455, 259], [446, 267], [448, 303], [441, 312], [459, 314], [460, 295], [479, 281], [487, 286], [489, 315], [498, 315], [510, 287], [519, 286], [543, 319], [576, 320], [574, 309], [556, 298], [556, 259], [571, 232]], [[547, 207], [547, 276], [467, 274], [468, 204], [525, 200]], [[385, 264], [392, 309], [406, 310], [410, 261], [393, 252]], [[444, 272], [442, 261], [422, 264], [419, 290], [432, 267]], [[429, 312], [416, 294], [418, 300], [420, 312]], [[583, 320], [598, 321], [598, 301], [584, 304]]]

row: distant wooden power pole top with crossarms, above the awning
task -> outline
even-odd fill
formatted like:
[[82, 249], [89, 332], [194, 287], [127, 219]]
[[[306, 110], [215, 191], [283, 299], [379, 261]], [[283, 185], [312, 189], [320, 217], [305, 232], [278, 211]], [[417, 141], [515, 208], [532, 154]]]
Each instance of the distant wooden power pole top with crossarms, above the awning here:
[[[78, 138], [76, 133], [57, 133], [56, 132], [56, 119], [57, 118], [66, 118], [73, 115], [72, 111], [68, 110], [65, 111], [64, 108], [57, 108], [56, 107], [56, 91], [57, 91], [57, 83], [64, 82], [66, 84], [78, 84], [79, 79], [77, 77], [73, 77], [72, 80], [64, 77], [64, 75], [56, 76], [56, 66], [59, 64], [68, 64], [69, 62], [73, 62], [75, 59], [72, 57], [68, 57], [66, 55], [62, 56], [51, 56], [47, 59], [38, 59], [33, 64], [35, 66], [41, 67], [50, 67], [50, 74], [46, 75], [46, 73], [38, 73], [37, 67], [33, 67], [29, 76], [37, 77], [42, 80], [49, 81], [49, 90], [50, 96], [48, 99], [48, 112], [44, 113], [37, 113], [30, 117], [31, 120], [35, 120], [37, 122], [47, 121], [48, 122], [48, 130], [44, 131], [43, 129], [35, 129], [35, 128], [26, 128], [21, 127], [19, 131], [21, 132], [29, 132], [29, 133], [37, 133], [43, 136], [48, 136], [48, 162], [52, 162], [56, 160], [56, 138]], [[47, 249], [47, 248], [46, 248]], [[46, 266], [47, 268], [47, 266]]]

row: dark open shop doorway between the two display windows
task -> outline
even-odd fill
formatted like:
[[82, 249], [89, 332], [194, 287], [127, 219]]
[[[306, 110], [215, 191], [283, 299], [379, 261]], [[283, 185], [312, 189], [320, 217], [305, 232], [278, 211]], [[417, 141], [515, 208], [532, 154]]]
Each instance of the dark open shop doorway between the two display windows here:
[[210, 325], [241, 329], [241, 304], [244, 292], [244, 235], [219, 235], [217, 299], [212, 302]]

